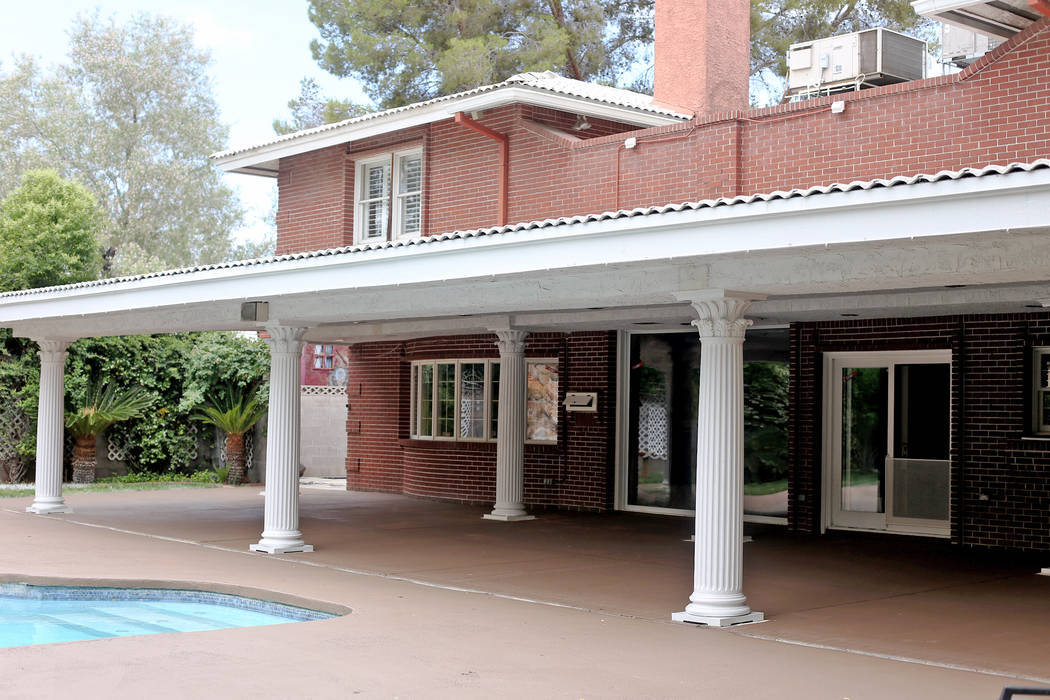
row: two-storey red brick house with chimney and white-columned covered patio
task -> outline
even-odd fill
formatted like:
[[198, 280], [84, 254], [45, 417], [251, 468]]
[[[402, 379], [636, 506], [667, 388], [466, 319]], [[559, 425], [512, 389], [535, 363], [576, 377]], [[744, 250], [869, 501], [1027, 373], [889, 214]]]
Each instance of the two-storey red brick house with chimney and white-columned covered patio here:
[[748, 12], [658, 0], [654, 98], [525, 73], [216, 154], [276, 177], [275, 258], [0, 321], [59, 378], [70, 328], [265, 326], [261, 551], [310, 548], [303, 342], [350, 348], [352, 490], [695, 516], [676, 619], [760, 619], [744, 518], [1050, 551], [1050, 19], [951, 76], [748, 109]]

